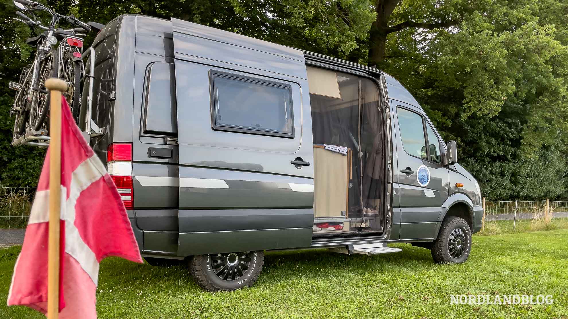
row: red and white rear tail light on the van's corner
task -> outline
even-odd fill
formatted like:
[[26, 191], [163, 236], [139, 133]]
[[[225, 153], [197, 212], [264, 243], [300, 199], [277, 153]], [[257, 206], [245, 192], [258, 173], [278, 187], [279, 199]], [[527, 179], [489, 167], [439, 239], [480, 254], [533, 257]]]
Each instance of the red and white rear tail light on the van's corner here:
[[132, 144], [112, 143], [107, 148], [107, 172], [127, 210], [134, 209], [132, 182]]

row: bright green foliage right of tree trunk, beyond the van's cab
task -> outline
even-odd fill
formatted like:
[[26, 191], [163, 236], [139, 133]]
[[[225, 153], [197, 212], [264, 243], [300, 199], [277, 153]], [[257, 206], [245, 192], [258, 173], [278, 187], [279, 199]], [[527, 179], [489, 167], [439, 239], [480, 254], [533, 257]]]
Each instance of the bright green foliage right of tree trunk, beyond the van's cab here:
[[410, 88], [446, 140], [458, 142], [459, 161], [483, 195], [565, 198], [568, 3], [421, 3], [398, 7], [392, 24], [455, 16], [460, 23], [391, 33], [382, 69]]

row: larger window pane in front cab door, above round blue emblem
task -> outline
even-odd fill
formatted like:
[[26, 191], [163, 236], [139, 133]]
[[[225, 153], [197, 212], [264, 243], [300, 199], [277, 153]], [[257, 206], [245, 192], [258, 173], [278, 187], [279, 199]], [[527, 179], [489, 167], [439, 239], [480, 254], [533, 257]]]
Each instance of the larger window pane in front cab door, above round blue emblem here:
[[402, 108], [398, 108], [397, 113], [400, 139], [404, 151], [418, 158], [427, 159], [422, 117]]

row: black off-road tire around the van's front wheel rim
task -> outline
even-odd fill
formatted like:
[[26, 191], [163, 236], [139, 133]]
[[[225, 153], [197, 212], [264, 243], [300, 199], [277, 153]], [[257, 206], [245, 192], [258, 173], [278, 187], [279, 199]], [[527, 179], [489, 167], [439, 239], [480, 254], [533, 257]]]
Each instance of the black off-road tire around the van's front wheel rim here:
[[[463, 253], [459, 257], [453, 257], [450, 254], [450, 235], [454, 229], [461, 229], [465, 237], [466, 242], [463, 243], [465, 248]], [[460, 217], [448, 216], [442, 222], [442, 227], [438, 233], [438, 237], [432, 243], [432, 258], [436, 263], [462, 263], [467, 260], [469, 253], [471, 252], [471, 229], [467, 222]]]

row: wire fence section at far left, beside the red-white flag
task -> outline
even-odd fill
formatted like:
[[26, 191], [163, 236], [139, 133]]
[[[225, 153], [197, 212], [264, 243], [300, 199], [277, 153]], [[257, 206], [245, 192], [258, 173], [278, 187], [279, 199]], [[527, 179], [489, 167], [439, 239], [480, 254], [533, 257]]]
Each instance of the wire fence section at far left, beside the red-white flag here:
[[0, 187], [0, 228], [25, 228], [35, 188]]

